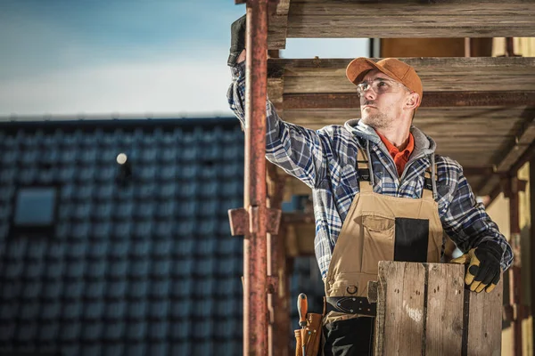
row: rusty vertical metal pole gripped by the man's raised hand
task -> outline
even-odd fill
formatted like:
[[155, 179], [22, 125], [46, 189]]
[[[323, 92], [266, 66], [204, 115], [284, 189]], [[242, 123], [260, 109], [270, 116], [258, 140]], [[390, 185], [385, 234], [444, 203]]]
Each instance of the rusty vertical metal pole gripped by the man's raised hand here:
[[266, 100], [268, 0], [247, 1], [245, 187], [250, 234], [243, 241], [243, 355], [268, 354]]

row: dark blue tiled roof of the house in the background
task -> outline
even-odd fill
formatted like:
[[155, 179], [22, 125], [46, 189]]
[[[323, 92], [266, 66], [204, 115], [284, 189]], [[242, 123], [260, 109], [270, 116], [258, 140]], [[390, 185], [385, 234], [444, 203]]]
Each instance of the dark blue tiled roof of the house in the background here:
[[[0, 354], [242, 353], [234, 118], [1, 123], [0, 165]], [[57, 187], [53, 233], [11, 229], [27, 186]], [[293, 298], [323, 293], [315, 263], [296, 259]]]

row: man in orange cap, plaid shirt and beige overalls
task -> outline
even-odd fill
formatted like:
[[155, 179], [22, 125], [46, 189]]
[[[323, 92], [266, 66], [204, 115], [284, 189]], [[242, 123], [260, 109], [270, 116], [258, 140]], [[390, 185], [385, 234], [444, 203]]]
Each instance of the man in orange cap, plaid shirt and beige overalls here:
[[[228, 65], [231, 109], [244, 123], [245, 17], [232, 25]], [[465, 282], [475, 292], [496, 287], [513, 252], [490, 220], [457, 161], [435, 153], [432, 138], [412, 125], [423, 98], [415, 69], [397, 59], [351, 61], [360, 119], [314, 131], [284, 122], [267, 103], [269, 161], [311, 189], [315, 250], [325, 282], [325, 355], [372, 354], [374, 305], [367, 282], [378, 261], [438, 263], [443, 231], [466, 253]]]

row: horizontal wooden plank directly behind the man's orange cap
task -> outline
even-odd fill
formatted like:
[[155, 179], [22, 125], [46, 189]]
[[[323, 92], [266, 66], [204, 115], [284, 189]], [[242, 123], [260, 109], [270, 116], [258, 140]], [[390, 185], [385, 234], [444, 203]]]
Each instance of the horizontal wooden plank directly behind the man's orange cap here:
[[[380, 59], [374, 58], [373, 61]], [[535, 90], [535, 58], [401, 58], [413, 66], [425, 92]], [[355, 93], [345, 77], [352, 59], [271, 59], [268, 76], [284, 76], [284, 93]]]

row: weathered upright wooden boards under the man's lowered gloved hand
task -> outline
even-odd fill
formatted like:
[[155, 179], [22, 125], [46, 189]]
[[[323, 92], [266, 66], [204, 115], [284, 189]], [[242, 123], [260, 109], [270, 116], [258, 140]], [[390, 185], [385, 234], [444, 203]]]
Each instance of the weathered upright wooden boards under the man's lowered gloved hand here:
[[465, 266], [379, 263], [375, 356], [499, 355], [502, 283], [465, 288]]

